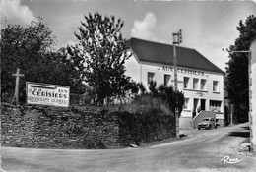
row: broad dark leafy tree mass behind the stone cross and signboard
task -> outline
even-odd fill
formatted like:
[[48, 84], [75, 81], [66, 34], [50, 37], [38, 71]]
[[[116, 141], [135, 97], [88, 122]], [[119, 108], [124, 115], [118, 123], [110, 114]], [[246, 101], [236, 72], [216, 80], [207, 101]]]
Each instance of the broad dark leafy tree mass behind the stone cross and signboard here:
[[[13, 95], [17, 68], [25, 74], [21, 78], [20, 93], [25, 101], [25, 82], [37, 82], [74, 86], [76, 74], [64, 60], [64, 52], [53, 52], [55, 37], [42, 23], [32, 22], [27, 28], [9, 25], [1, 30], [1, 97], [7, 100]], [[7, 100], [8, 101], [8, 100]]]

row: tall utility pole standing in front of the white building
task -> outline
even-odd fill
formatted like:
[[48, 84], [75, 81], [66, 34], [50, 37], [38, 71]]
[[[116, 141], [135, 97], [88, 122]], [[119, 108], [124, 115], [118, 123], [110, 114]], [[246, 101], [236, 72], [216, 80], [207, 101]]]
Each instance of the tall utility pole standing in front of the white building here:
[[[173, 65], [174, 65], [174, 90], [178, 90], [178, 76], [177, 76], [177, 55], [176, 44], [182, 43], [182, 30], [177, 33], [172, 33], [173, 36]], [[177, 38], [177, 39], [176, 39]], [[176, 103], [178, 105], [178, 102]], [[179, 138], [179, 111], [178, 107], [175, 107], [175, 119], [176, 119], [176, 138]]]

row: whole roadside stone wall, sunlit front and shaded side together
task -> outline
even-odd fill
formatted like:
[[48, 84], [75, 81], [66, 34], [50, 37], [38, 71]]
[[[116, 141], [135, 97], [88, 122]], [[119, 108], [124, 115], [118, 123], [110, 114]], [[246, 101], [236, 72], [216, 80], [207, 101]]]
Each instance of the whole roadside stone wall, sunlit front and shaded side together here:
[[[107, 113], [96, 107], [1, 105], [2, 146], [120, 148], [174, 136], [170, 115]], [[137, 116], [137, 118], [135, 118]], [[145, 120], [149, 119], [149, 120]]]

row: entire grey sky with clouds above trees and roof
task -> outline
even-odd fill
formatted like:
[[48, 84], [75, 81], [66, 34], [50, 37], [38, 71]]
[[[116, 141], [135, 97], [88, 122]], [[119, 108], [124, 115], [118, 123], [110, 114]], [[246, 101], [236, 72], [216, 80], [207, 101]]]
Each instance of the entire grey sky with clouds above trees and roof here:
[[[76, 44], [84, 16], [98, 12], [124, 21], [123, 37], [172, 44], [172, 33], [182, 29], [179, 46], [196, 49], [225, 71], [228, 53], [223, 48], [239, 36], [236, 27], [249, 15], [256, 16], [251, 1], [162, 1], [162, 0], [0, 0], [1, 29], [7, 25], [28, 26], [43, 18], [56, 36], [55, 49]], [[177, 54], [178, 58], [178, 54]]]

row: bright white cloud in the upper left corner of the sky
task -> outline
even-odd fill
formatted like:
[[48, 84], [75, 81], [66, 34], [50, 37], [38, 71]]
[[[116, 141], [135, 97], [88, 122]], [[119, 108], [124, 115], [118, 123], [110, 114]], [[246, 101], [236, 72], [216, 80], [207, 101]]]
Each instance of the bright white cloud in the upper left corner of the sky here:
[[1, 0], [0, 11], [7, 19], [15, 19], [22, 24], [37, 21], [29, 7], [21, 4], [21, 0]]

